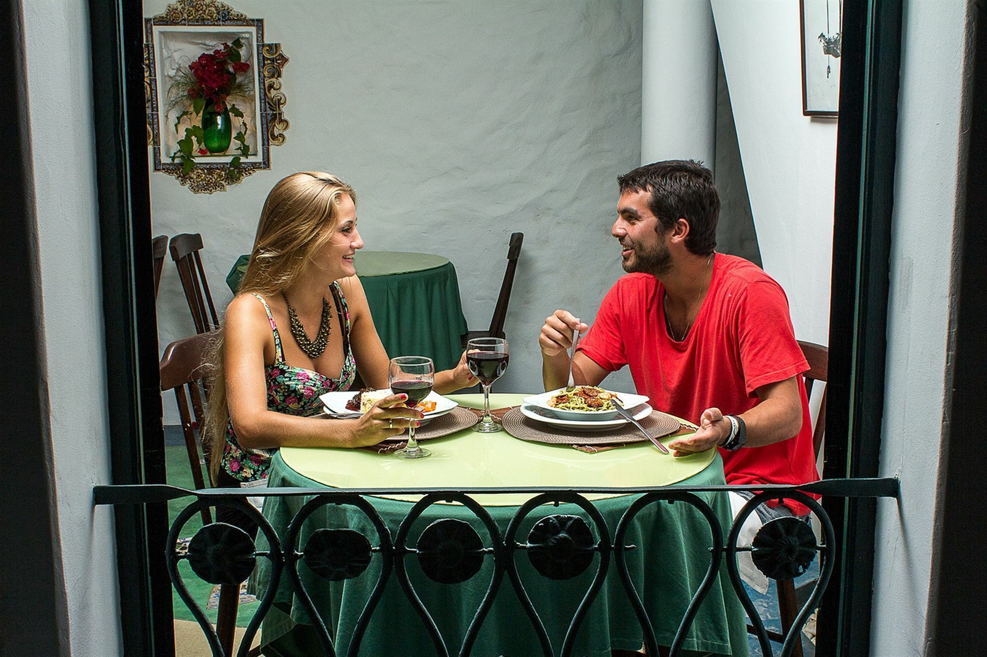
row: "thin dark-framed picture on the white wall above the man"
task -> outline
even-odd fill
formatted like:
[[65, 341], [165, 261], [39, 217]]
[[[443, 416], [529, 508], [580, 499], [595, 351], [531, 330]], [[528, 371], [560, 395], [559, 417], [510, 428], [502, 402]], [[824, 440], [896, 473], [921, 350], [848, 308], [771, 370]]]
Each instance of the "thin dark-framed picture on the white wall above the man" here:
[[836, 116], [840, 107], [843, 0], [798, 0], [801, 14], [802, 113]]

